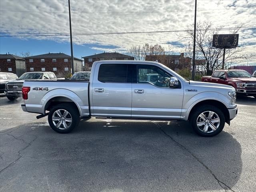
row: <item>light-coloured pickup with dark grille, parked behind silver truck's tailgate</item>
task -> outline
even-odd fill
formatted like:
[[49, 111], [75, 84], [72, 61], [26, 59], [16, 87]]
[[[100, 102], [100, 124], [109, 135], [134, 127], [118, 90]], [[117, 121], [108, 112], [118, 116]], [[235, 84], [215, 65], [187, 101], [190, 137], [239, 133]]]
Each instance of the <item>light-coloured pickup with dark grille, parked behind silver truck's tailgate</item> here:
[[9, 100], [15, 100], [22, 95], [22, 86], [25, 80], [57, 80], [54, 72], [27, 72], [17, 80], [6, 84], [4, 93]]

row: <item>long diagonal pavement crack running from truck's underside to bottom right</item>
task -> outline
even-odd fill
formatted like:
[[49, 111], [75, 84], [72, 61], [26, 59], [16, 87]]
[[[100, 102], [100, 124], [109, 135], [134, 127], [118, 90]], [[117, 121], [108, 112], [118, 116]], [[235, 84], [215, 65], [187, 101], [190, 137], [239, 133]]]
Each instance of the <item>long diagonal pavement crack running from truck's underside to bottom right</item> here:
[[204, 166], [204, 168], [206, 168], [206, 170], [208, 170], [208, 172], [210, 172], [210, 174], [214, 177], [214, 179], [218, 182], [218, 184], [220, 185], [221, 188], [223, 188], [225, 190], [225, 192], [227, 190], [230, 190], [232, 192], [235, 192], [234, 190], [232, 190], [231, 187], [229, 187], [227, 184], [225, 184], [224, 182], [221, 182], [217, 176], [212, 172], [212, 170], [210, 168], [208, 168], [208, 166], [206, 166], [206, 164], [204, 164], [194, 153], [192, 153], [189, 149], [187, 149], [184, 145], [180, 144], [178, 141], [176, 141], [174, 138], [172, 138], [172, 136], [168, 135], [163, 129], [162, 127], [157, 123], [152, 121], [154, 124], [156, 124], [156, 126], [158, 126], [158, 128], [160, 129], [161, 132], [163, 132], [167, 137], [169, 137], [173, 142], [175, 142], [180, 148], [182, 148], [183, 150], [187, 151], [196, 161], [198, 161], [202, 166]]

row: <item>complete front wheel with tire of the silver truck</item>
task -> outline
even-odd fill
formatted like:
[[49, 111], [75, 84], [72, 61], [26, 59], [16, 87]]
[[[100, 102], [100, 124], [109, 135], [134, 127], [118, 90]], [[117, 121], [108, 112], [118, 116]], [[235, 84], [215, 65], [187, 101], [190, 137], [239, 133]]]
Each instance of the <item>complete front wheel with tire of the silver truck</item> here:
[[192, 111], [190, 124], [200, 136], [212, 137], [219, 134], [225, 126], [223, 112], [211, 105], [199, 106]]

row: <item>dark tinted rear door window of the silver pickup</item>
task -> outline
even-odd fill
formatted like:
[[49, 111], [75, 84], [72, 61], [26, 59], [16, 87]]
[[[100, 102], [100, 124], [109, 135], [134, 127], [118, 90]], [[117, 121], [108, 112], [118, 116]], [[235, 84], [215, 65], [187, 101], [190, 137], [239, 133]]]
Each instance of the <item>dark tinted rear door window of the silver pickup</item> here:
[[128, 64], [101, 64], [98, 80], [103, 83], [128, 83], [131, 82], [129, 76]]

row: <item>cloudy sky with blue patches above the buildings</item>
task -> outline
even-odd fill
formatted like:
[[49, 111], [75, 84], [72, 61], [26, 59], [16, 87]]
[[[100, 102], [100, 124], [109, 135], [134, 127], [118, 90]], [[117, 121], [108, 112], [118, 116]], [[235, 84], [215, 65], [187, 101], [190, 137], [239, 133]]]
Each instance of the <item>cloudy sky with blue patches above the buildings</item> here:
[[[186, 30], [194, 22], [194, 0], [70, 0], [70, 4], [78, 58], [103, 51], [125, 52], [145, 43], [170, 45], [178, 54], [186, 43], [179, 38], [182, 32], [77, 34]], [[256, 55], [256, 0], [198, 0], [197, 10], [197, 20], [212, 22], [213, 28], [254, 27], [239, 31], [239, 45]], [[0, 0], [0, 32], [1, 36], [30, 35], [1, 37], [1, 53], [70, 54], [69, 36], [31, 36], [68, 34], [68, 0]]]

